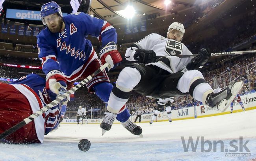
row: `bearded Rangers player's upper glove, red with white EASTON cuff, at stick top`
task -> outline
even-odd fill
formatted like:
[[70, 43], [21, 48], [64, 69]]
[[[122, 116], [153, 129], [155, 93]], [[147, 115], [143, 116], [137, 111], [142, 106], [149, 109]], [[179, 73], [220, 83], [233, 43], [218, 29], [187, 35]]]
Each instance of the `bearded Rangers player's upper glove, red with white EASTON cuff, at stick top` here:
[[117, 51], [117, 45], [115, 42], [109, 42], [104, 48], [100, 50], [100, 60], [102, 64], [108, 62], [108, 71], [117, 66], [121, 61], [122, 57]]

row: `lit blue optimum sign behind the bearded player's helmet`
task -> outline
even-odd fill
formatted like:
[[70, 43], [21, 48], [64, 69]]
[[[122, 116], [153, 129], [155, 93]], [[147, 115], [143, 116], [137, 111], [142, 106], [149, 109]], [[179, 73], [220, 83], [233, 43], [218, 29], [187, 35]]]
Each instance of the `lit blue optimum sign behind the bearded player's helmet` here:
[[[63, 16], [67, 13], [62, 13]], [[29, 11], [20, 9], [7, 9], [6, 18], [24, 19], [24, 20], [40, 20], [40, 11]]]

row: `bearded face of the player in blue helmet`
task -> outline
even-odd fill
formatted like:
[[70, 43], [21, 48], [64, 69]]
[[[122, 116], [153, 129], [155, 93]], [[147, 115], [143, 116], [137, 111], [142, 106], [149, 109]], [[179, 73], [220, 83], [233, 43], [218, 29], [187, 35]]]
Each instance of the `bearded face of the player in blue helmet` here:
[[45, 22], [48, 29], [50, 29], [52, 33], [57, 33], [61, 31], [63, 22], [61, 17], [58, 16], [57, 13], [45, 16]]

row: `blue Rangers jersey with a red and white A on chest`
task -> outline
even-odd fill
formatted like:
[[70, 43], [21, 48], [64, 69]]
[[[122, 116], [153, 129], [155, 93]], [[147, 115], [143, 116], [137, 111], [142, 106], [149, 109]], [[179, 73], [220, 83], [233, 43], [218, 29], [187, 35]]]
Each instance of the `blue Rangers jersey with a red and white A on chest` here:
[[43, 72], [60, 70], [67, 81], [78, 79], [97, 55], [87, 35], [102, 41], [117, 43], [117, 33], [108, 22], [82, 12], [63, 16], [65, 28], [59, 33], [52, 33], [46, 27], [37, 36], [39, 59], [42, 61]]

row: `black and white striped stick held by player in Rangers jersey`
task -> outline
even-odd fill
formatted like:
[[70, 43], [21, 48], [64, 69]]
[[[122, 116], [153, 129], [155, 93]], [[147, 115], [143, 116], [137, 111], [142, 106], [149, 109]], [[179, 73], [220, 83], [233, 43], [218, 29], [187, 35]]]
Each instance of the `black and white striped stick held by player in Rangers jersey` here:
[[5, 132], [3, 132], [2, 134], [0, 134], [0, 140], [6, 138], [8, 135], [12, 134], [13, 132], [16, 132], [17, 130], [19, 130], [20, 128], [22, 128], [23, 126], [25, 126], [26, 124], [30, 123], [31, 121], [33, 121], [35, 118], [37, 118], [38, 116], [42, 115], [43, 113], [45, 113], [46, 111], [48, 111], [50, 108], [52, 108], [53, 106], [55, 106], [56, 104], [58, 104], [59, 102], [63, 101], [65, 98], [67, 98], [67, 96], [69, 96], [71, 93], [73, 93], [74, 91], [78, 90], [80, 87], [82, 87], [83, 85], [85, 85], [89, 80], [91, 80], [95, 75], [97, 75], [98, 73], [100, 73], [102, 70], [104, 70], [105, 68], [107, 68], [107, 66], [109, 66], [109, 63], [106, 62], [103, 66], [101, 66], [100, 68], [98, 68], [98, 70], [96, 70], [93, 74], [89, 75], [88, 77], [86, 77], [84, 80], [82, 80], [79, 84], [76, 84], [76, 86], [74, 86], [73, 88], [71, 88], [70, 90], [68, 90], [66, 93], [64, 93], [63, 95], [60, 95], [59, 97], [57, 97], [54, 101], [50, 102], [49, 104], [47, 104], [45, 107], [41, 108], [40, 110], [38, 110], [37, 112], [33, 113], [32, 115], [30, 115], [29, 117], [27, 117], [26, 119], [24, 119], [23, 121], [21, 121], [20, 123], [16, 124], [15, 126], [9, 128], [8, 130], [6, 130]]

